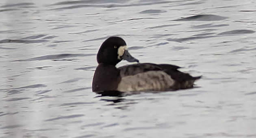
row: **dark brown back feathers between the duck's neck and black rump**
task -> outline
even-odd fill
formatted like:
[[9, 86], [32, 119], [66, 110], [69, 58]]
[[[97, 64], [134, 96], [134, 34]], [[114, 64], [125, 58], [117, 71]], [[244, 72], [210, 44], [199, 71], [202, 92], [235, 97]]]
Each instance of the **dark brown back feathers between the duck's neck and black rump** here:
[[118, 68], [120, 71], [120, 76], [130, 76], [136, 75], [138, 73], [144, 73], [147, 71], [163, 71], [160, 65], [153, 64], [153, 63], [138, 63], [132, 65], [125, 65]]

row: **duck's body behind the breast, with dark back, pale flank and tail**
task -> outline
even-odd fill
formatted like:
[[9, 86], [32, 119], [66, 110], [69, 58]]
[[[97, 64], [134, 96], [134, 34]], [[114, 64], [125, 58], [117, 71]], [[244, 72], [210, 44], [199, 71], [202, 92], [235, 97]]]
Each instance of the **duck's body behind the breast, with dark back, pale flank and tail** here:
[[142, 63], [119, 67], [121, 82], [118, 91], [165, 91], [193, 88], [195, 80], [188, 73], [178, 71], [181, 67], [170, 64]]

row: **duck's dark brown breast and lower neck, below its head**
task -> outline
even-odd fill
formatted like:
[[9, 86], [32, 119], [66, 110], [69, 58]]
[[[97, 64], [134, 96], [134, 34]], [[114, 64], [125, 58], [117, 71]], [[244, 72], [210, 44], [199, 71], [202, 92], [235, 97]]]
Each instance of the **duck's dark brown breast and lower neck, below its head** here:
[[93, 76], [93, 91], [115, 91], [121, 78], [115, 65], [100, 63]]

